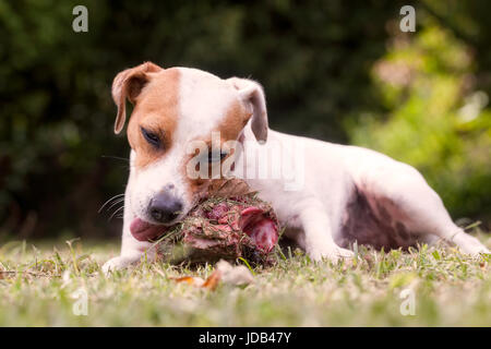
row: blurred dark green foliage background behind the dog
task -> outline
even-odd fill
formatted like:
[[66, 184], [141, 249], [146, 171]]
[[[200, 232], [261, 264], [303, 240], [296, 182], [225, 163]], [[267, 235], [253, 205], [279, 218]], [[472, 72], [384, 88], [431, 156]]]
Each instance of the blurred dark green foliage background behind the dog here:
[[[490, 93], [487, 1], [418, 2], [417, 33], [387, 46], [403, 4], [0, 0], [0, 236], [119, 233], [97, 213], [128, 176], [110, 85], [143, 61], [255, 79], [272, 128], [387, 152], [457, 217], [489, 217], [489, 109], [459, 111]], [[417, 77], [391, 85], [383, 64]]]

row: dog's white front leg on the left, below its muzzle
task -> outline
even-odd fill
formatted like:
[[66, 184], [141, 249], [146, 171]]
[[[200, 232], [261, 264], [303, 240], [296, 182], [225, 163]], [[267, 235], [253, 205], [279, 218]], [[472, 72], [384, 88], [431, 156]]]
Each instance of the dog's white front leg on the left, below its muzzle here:
[[132, 264], [137, 264], [142, 260], [153, 262], [157, 255], [155, 245], [146, 241], [137, 241], [130, 231], [130, 225], [134, 219], [129, 203], [129, 191], [124, 197], [124, 221], [121, 243], [121, 255], [107, 261], [103, 266], [103, 272], [108, 274], [110, 270], [125, 268]]

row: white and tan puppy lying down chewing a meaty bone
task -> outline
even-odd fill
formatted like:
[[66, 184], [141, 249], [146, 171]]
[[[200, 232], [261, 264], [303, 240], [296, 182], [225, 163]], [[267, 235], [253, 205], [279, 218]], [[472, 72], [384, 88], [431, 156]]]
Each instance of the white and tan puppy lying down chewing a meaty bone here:
[[[128, 124], [130, 176], [124, 193], [121, 255], [105, 273], [156, 257], [148, 241], [132, 231], [170, 226], [193, 207], [208, 179], [190, 178], [188, 144], [237, 141], [243, 148], [220, 153], [236, 163], [273, 146], [301, 149], [303, 183], [286, 188], [285, 178], [246, 178], [270, 202], [285, 236], [313, 261], [351, 257], [352, 243], [407, 249], [443, 240], [464, 253], [489, 250], [451, 219], [440, 196], [411, 166], [374, 151], [288, 135], [268, 129], [262, 86], [248, 79], [223, 80], [190, 68], [163, 69], [145, 62], [120, 72], [112, 83], [118, 107], [115, 132], [125, 123], [127, 99], [133, 104]], [[231, 153], [231, 152], [230, 152]], [[287, 153], [288, 155], [288, 153]], [[246, 170], [253, 161], [242, 161]]]

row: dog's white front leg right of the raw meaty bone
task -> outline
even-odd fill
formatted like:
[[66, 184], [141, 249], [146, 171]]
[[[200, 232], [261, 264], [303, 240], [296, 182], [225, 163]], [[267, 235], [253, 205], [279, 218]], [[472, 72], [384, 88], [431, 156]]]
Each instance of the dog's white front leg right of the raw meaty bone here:
[[304, 233], [306, 252], [313, 261], [328, 258], [337, 262], [340, 257], [352, 257], [349, 250], [339, 248], [333, 239], [332, 221], [325, 207], [318, 202], [310, 202], [300, 213]]

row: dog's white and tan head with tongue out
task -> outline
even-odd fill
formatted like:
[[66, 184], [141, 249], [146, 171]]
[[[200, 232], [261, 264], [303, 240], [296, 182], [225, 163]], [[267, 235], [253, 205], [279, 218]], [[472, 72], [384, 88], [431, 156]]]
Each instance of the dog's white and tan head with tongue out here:
[[[178, 221], [207, 182], [189, 177], [187, 166], [195, 156], [189, 144], [200, 141], [212, 147], [214, 133], [224, 149], [221, 144], [238, 140], [249, 121], [256, 140], [266, 141], [264, 94], [250, 80], [221, 80], [195, 69], [147, 62], [115, 77], [112, 98], [118, 106], [116, 133], [124, 127], [125, 100], [134, 106], [127, 131], [132, 148], [128, 194], [133, 214], [151, 224]], [[209, 160], [230, 156], [218, 154]]]

